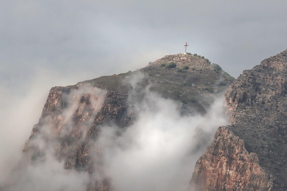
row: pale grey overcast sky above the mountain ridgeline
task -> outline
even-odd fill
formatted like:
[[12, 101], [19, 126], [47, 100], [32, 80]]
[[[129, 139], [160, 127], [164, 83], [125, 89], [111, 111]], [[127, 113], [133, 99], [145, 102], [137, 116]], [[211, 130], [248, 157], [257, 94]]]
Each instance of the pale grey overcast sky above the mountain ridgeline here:
[[185, 42], [234, 77], [287, 48], [283, 0], [0, 2], [2, 100], [136, 70]]

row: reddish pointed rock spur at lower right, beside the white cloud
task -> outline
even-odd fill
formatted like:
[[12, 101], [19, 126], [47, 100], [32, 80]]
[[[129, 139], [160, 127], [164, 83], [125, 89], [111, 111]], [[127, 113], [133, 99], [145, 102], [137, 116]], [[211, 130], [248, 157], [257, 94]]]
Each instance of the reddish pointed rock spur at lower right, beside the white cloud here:
[[224, 126], [197, 161], [191, 182], [192, 190], [269, 190], [273, 185], [257, 155], [249, 153], [244, 141]]

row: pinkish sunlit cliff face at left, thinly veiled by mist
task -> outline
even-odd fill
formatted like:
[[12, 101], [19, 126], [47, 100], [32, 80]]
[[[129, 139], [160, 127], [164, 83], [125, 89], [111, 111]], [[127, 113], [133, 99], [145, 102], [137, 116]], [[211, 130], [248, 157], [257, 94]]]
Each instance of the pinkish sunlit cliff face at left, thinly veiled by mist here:
[[[54, 87], [51, 88], [44, 105], [39, 123], [34, 125], [24, 152], [29, 153], [32, 160], [37, 160], [44, 153], [34, 137], [41, 134], [42, 138], [53, 140], [56, 155], [63, 159], [75, 151], [77, 143], [88, 133], [96, 114], [101, 109], [106, 90], [91, 87]], [[46, 148], [44, 148], [46, 149]]]

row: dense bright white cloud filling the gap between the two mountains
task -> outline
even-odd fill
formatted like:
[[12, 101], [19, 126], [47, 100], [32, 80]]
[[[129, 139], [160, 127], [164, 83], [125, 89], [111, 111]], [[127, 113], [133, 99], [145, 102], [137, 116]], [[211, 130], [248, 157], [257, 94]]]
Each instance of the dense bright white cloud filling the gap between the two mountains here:
[[[129, 77], [137, 96], [143, 74]], [[186, 190], [195, 162], [206, 151], [220, 125], [226, 125], [224, 99], [216, 99], [205, 116], [181, 115], [181, 103], [150, 92], [133, 105], [137, 120], [127, 129], [102, 128], [96, 145], [102, 147], [106, 176], [115, 190]], [[134, 98], [133, 100], [136, 100]], [[118, 136], [120, 134], [120, 136]]]

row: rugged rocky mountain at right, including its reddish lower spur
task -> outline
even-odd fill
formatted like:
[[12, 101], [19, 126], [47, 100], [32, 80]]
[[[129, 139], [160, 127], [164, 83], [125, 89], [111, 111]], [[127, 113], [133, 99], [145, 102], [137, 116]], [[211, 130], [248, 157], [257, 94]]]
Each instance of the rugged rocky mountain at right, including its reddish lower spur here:
[[[197, 162], [193, 186], [203, 190], [287, 190], [286, 71], [287, 50], [243, 71], [230, 85], [226, 102], [232, 111], [231, 125], [218, 129], [212, 146]], [[229, 133], [218, 139], [222, 129]], [[226, 141], [230, 135], [239, 137], [241, 150], [234, 150], [238, 141]], [[230, 172], [236, 177], [231, 178]]]

